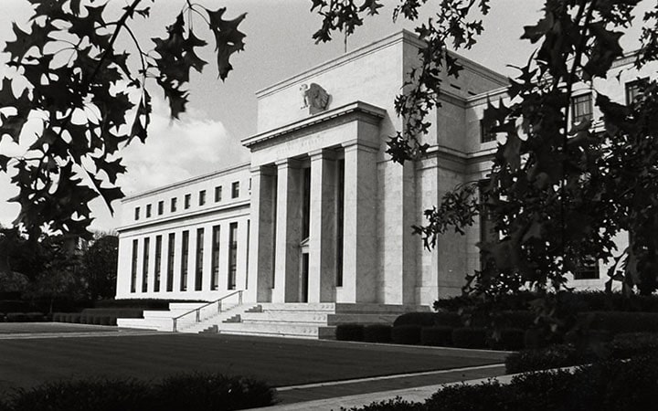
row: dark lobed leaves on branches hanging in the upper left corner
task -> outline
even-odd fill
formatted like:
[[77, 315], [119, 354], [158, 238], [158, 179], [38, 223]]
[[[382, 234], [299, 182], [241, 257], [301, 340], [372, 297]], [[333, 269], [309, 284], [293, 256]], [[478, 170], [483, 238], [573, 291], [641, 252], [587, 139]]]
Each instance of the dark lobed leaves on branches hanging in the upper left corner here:
[[[16, 39], [5, 45], [16, 76], [3, 79], [0, 89], [0, 138], [8, 135], [28, 148], [17, 157], [0, 153], [0, 171], [15, 171], [12, 183], [19, 194], [11, 201], [21, 205], [15, 223], [29, 236], [43, 229], [89, 236], [90, 200], [100, 195], [112, 209], [112, 201], [122, 197], [116, 185], [117, 175], [126, 171], [120, 147], [135, 137], [146, 139], [147, 79], [164, 91], [172, 118], [186, 110], [189, 73], [206, 65], [197, 50], [207, 45], [196, 37], [190, 18], [206, 20], [216, 39], [219, 77], [226, 79], [230, 56], [244, 47], [238, 26], [245, 15], [224, 20], [224, 8], [211, 11], [186, 2], [166, 35], [153, 38], [154, 51], [146, 53], [132, 26], [150, 16], [150, 5], [143, 4], [153, 0], [133, 0], [116, 19], [106, 4], [93, 0], [30, 2], [34, 14], [27, 31], [14, 24]], [[120, 34], [133, 39], [141, 68], [131, 68], [131, 53], [116, 49]]]

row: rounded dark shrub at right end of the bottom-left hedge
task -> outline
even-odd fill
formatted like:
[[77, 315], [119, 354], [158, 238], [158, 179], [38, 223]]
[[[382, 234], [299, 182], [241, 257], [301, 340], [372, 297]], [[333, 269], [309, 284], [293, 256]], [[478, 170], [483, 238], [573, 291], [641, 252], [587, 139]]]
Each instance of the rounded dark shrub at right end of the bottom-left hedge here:
[[252, 379], [222, 374], [179, 374], [155, 388], [153, 409], [232, 410], [271, 406], [276, 391]]

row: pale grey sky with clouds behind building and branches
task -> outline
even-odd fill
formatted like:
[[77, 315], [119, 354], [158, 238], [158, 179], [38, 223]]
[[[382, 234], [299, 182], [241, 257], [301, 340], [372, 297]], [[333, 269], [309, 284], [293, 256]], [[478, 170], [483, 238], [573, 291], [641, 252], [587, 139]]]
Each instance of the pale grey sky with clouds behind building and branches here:
[[[336, 58], [344, 53], [343, 38], [338, 36], [328, 44], [314, 44], [313, 32], [321, 19], [310, 13], [310, 0], [199, 0], [210, 9], [227, 7], [226, 18], [242, 13], [247, 17], [239, 26], [247, 35], [245, 49], [231, 58], [234, 70], [228, 79], [218, 79], [213, 66], [213, 47], [207, 47], [201, 57], [209, 64], [203, 74], [193, 72], [188, 89], [190, 102], [180, 121], [171, 121], [162, 93], [147, 85], [154, 96], [154, 114], [145, 144], [133, 142], [123, 149], [127, 174], [119, 177], [118, 184], [126, 195], [133, 195], [163, 184], [185, 180], [198, 174], [207, 174], [232, 164], [249, 160], [249, 152], [241, 147], [240, 140], [256, 132], [255, 92], [287, 79], [308, 68]], [[150, 2], [144, 2], [150, 4]], [[164, 37], [165, 26], [174, 22], [185, 0], [158, 0], [152, 5], [148, 20], [137, 20], [132, 26], [143, 45], [151, 37]], [[412, 30], [414, 25], [391, 19], [393, 6], [398, 2], [385, 0], [380, 14], [366, 18], [364, 26], [348, 39], [348, 51], [366, 46], [402, 28]], [[421, 20], [430, 16], [432, 2], [424, 8]], [[127, 0], [110, 0], [117, 9]], [[642, 2], [647, 9], [653, 0]], [[458, 50], [484, 66], [514, 77], [512, 66], [524, 65], [535, 46], [519, 39], [523, 26], [534, 24], [541, 16], [542, 0], [493, 0], [492, 10], [483, 17], [484, 34], [471, 50]], [[108, 7], [111, 11], [112, 7]], [[0, 44], [15, 37], [11, 23], [15, 21], [26, 29], [30, 16], [27, 0], [0, 0]], [[401, 19], [400, 19], [401, 20]], [[198, 33], [214, 40], [200, 19], [195, 20]], [[622, 39], [633, 47], [631, 37], [637, 37], [638, 27]], [[133, 50], [126, 37], [119, 45]], [[146, 47], [150, 48], [150, 47]], [[0, 55], [0, 77], [6, 72], [5, 55]], [[11, 153], [8, 137], [0, 138], [0, 153]], [[18, 214], [18, 205], [6, 200], [16, 195], [9, 177], [0, 174], [0, 224], [9, 225]], [[118, 202], [117, 202], [118, 203]], [[97, 199], [91, 203], [92, 228], [103, 231], [117, 227], [117, 216], [111, 216], [107, 206]], [[120, 209], [118, 204], [115, 208]]]

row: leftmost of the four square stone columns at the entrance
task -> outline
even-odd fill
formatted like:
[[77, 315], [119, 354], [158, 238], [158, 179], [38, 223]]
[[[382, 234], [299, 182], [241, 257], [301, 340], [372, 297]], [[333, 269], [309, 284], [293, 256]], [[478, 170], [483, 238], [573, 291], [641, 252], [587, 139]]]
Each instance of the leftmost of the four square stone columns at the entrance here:
[[[249, 289], [245, 293], [245, 301], [266, 302], [271, 300], [276, 212], [274, 208], [275, 187], [276, 174], [273, 167], [259, 166], [251, 170]], [[226, 229], [228, 229], [228, 225], [223, 225], [222, 231]], [[220, 281], [222, 280], [225, 279], [220, 278]]]

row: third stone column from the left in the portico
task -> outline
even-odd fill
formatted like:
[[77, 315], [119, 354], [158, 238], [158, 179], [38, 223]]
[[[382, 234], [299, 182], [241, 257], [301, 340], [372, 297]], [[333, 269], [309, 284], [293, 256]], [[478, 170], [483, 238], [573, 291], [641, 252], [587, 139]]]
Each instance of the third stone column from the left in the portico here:
[[334, 150], [311, 155], [309, 302], [335, 300], [336, 161]]

